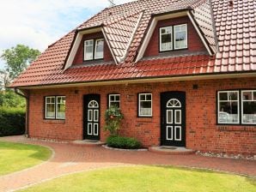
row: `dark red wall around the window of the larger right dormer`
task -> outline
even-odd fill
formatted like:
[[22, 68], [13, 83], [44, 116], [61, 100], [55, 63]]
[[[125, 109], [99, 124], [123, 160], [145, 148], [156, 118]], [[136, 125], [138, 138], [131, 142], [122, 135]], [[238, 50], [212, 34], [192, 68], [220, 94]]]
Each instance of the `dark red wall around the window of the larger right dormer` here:
[[[187, 16], [183, 16], [180, 18], [158, 21], [155, 27], [155, 32], [153, 33], [149, 41], [149, 45], [144, 53], [144, 57], [159, 55], [159, 28], [160, 27], [167, 27], [167, 26], [179, 25], [184, 23], [187, 23], [188, 51], [205, 51], [204, 44], [202, 43], [202, 40], [199, 38], [198, 33], [193, 27], [192, 22], [189, 20]], [[169, 51], [169, 52], [170, 54], [172, 54], [178, 51]]]

